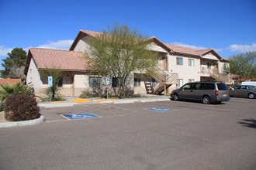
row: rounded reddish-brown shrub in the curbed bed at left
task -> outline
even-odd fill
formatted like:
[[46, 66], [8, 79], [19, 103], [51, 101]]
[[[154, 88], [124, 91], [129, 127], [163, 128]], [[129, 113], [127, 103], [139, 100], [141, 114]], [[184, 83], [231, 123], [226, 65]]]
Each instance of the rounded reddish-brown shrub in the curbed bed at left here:
[[16, 94], [5, 99], [5, 119], [7, 121], [28, 121], [40, 117], [40, 107], [29, 94]]

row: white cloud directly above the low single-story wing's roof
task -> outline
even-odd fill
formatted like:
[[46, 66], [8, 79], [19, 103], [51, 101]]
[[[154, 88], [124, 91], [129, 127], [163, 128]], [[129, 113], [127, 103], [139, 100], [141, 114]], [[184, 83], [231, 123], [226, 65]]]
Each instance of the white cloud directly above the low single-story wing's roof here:
[[73, 40], [66, 39], [66, 40], [59, 40], [57, 42], [48, 41], [46, 44], [41, 46], [37, 46], [37, 48], [44, 48], [44, 49], [69, 49]]

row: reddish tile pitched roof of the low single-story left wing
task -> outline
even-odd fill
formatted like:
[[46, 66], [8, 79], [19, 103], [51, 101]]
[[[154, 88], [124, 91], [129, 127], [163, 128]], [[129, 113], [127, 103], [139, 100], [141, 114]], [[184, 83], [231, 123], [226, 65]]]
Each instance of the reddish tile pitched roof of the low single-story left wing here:
[[88, 70], [86, 65], [88, 60], [85, 59], [85, 53], [81, 52], [31, 48], [29, 49], [26, 67], [28, 67], [31, 58], [34, 59], [38, 70], [49, 68], [56, 70]]

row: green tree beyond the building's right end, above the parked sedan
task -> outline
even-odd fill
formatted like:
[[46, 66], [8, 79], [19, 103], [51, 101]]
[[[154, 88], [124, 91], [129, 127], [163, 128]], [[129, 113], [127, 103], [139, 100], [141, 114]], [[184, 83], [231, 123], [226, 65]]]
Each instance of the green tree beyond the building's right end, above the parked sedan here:
[[237, 74], [244, 79], [256, 77], [256, 51], [232, 56], [230, 58], [230, 73]]

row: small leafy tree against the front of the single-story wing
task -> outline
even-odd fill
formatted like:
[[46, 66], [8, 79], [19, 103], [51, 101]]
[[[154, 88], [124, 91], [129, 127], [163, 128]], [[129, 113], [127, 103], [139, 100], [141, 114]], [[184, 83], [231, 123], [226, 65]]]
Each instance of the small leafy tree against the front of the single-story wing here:
[[53, 76], [53, 87], [47, 88], [46, 93], [49, 95], [51, 94], [51, 99], [56, 100], [56, 94], [57, 94], [57, 84], [61, 81], [62, 78], [62, 71], [61, 70], [41, 70], [40, 75], [42, 75], [44, 78], [48, 78], [48, 76]]

